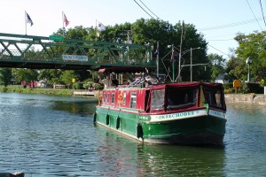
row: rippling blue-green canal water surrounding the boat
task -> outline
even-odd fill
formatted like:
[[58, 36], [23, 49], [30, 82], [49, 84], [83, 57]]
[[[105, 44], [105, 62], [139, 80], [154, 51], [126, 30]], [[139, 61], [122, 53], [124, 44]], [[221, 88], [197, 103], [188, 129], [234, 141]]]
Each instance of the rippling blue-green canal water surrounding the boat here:
[[265, 176], [266, 109], [227, 105], [223, 147], [153, 145], [94, 126], [85, 97], [0, 93], [0, 173]]

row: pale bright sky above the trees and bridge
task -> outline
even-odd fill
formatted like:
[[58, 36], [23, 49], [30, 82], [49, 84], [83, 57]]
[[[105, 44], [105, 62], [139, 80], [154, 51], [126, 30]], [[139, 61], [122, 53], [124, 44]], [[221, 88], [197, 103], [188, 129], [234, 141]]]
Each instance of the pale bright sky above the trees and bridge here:
[[[114, 26], [153, 17], [172, 25], [193, 24], [208, 43], [207, 53], [227, 59], [239, 46], [233, 39], [238, 33], [266, 29], [265, 0], [0, 0], [0, 5], [0, 33], [25, 35], [27, 28], [27, 35], [52, 35], [63, 27], [62, 12], [70, 21], [66, 30], [95, 27], [96, 20]], [[32, 27], [25, 25], [25, 12], [34, 22]]]

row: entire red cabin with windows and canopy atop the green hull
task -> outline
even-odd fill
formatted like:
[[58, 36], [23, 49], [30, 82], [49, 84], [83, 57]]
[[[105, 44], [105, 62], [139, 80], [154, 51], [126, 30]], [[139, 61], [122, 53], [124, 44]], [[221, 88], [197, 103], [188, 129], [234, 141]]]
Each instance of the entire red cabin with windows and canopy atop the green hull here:
[[222, 84], [201, 82], [104, 89], [101, 106], [143, 113], [194, 110], [203, 106], [226, 111]]

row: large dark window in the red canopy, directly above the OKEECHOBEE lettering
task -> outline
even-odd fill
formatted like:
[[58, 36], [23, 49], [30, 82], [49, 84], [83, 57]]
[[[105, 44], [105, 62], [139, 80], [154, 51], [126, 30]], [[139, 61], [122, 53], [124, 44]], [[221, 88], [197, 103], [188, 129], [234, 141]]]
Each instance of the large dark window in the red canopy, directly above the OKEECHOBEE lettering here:
[[197, 88], [168, 88], [168, 109], [195, 106]]

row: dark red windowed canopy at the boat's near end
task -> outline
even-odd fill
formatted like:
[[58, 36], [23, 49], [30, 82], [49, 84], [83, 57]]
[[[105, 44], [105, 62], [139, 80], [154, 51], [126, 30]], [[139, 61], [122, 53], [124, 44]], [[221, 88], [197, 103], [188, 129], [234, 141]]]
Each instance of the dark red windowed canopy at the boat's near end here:
[[168, 83], [153, 86], [150, 98], [151, 112], [196, 109], [206, 105], [226, 111], [222, 84]]

